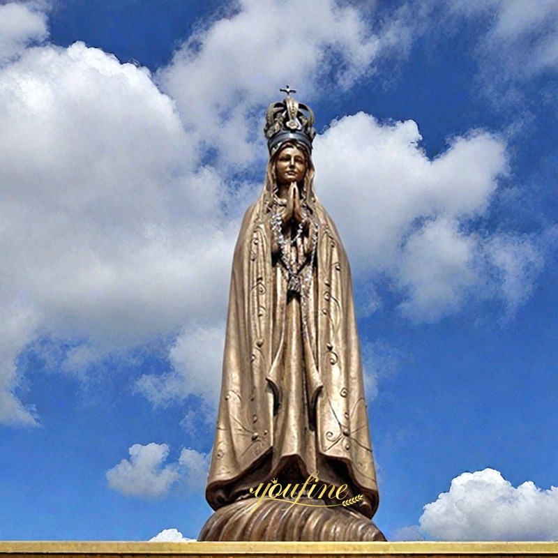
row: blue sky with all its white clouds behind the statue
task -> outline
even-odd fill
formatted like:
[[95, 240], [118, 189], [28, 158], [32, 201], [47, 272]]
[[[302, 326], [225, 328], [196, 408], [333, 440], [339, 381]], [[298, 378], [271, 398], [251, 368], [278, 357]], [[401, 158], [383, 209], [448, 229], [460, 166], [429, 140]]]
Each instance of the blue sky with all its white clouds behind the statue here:
[[0, 540], [196, 538], [264, 112], [317, 116], [389, 540], [558, 540], [555, 0], [0, 1]]

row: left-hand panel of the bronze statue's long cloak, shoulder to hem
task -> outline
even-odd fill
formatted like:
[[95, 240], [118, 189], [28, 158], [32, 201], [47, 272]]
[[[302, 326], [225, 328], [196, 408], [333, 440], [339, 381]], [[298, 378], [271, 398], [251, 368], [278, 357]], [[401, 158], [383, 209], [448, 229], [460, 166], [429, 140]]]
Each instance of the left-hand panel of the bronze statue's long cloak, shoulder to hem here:
[[235, 481], [269, 453], [273, 394], [271, 363], [273, 278], [271, 237], [262, 197], [248, 208], [232, 262], [223, 379], [206, 499], [229, 503]]

